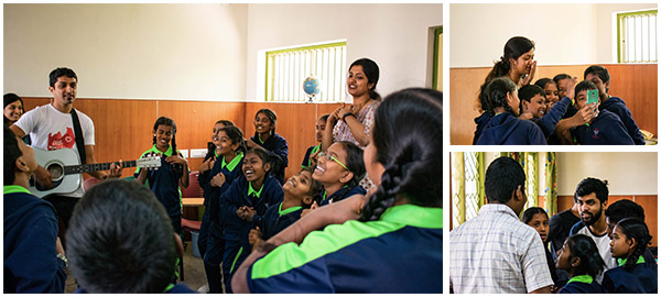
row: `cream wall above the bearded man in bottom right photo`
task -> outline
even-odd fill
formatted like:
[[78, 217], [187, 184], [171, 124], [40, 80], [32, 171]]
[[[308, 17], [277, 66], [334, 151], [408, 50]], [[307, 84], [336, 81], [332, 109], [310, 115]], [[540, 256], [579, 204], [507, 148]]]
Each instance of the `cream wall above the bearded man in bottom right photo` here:
[[608, 180], [610, 195], [657, 195], [657, 153], [557, 153], [557, 195], [585, 177]]

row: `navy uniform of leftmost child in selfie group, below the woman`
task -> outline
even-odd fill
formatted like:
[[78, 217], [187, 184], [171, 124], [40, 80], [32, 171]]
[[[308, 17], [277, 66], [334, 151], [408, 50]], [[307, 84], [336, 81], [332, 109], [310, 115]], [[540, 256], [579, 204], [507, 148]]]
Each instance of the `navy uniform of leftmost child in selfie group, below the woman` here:
[[510, 112], [502, 112], [494, 116], [485, 125], [477, 144], [539, 145], [546, 144], [546, 139], [535, 123], [521, 120]]

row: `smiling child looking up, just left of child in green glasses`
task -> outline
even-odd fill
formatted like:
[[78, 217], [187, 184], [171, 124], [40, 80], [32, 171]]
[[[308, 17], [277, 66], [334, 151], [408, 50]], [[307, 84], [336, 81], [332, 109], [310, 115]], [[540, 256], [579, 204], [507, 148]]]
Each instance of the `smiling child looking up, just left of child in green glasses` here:
[[308, 209], [314, 198], [322, 191], [322, 184], [312, 178], [312, 168], [305, 167], [290, 177], [282, 186], [284, 198], [279, 205], [267, 209], [261, 223], [254, 223], [250, 230], [249, 243], [254, 250], [261, 242], [301, 219], [303, 209]]

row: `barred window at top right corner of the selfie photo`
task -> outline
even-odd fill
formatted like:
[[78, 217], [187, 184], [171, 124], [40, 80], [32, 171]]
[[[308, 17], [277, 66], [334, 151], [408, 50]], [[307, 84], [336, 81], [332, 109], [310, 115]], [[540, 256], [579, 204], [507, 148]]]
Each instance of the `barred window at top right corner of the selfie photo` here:
[[655, 63], [657, 10], [617, 13], [619, 63]]

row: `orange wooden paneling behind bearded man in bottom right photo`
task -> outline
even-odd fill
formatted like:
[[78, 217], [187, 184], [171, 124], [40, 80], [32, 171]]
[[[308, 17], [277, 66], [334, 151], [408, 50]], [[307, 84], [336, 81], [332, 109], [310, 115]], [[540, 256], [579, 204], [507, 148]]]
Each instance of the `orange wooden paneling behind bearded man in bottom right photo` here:
[[[652, 246], [659, 246], [659, 213], [657, 195], [610, 195], [606, 207], [618, 200], [628, 199], [639, 204], [644, 209], [644, 222], [650, 229], [652, 235]], [[574, 196], [557, 197], [557, 212], [567, 210], [574, 205]]]

